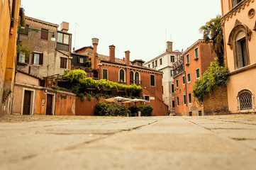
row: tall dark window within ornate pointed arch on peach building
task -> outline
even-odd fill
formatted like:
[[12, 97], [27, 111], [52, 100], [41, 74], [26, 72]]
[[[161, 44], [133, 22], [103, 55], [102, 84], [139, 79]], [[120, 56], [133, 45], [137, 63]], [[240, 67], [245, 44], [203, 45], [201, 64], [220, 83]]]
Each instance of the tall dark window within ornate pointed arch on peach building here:
[[238, 61], [238, 68], [247, 66], [247, 46], [245, 40], [245, 32], [240, 31], [235, 36], [235, 51]]

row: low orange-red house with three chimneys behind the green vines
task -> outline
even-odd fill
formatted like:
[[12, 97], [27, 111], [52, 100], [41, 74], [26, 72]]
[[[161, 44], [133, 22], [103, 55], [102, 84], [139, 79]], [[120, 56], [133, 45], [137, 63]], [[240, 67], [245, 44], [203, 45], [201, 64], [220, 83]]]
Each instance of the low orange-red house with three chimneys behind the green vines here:
[[[115, 56], [115, 46], [109, 46], [109, 56], [99, 55], [97, 45], [99, 39], [93, 38], [94, 47], [82, 47], [75, 50], [77, 54], [87, 55], [94, 71], [91, 77], [108, 79], [120, 84], [137, 84], [142, 86], [145, 103], [154, 108], [152, 115], [167, 115], [167, 106], [162, 101], [162, 72], [143, 67], [143, 60], [130, 62], [130, 51], [125, 52], [123, 59]], [[93, 51], [91, 51], [93, 50]], [[73, 67], [73, 66], [72, 66]]]

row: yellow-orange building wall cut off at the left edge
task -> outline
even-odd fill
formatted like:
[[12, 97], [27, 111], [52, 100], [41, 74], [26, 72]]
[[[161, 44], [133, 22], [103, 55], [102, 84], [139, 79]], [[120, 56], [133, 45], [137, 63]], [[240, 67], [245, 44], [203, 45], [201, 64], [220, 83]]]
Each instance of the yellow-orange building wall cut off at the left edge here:
[[11, 113], [20, 0], [0, 1], [0, 116]]

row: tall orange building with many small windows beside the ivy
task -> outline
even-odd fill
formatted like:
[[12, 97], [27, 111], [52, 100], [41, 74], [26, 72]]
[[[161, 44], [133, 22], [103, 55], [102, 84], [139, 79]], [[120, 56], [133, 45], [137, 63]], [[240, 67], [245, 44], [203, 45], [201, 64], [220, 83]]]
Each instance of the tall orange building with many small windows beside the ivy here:
[[193, 96], [193, 86], [201, 79], [214, 61], [216, 54], [211, 52], [211, 44], [197, 40], [183, 52], [182, 59], [173, 64], [174, 101], [176, 115], [204, 115], [204, 106], [199, 105]]

